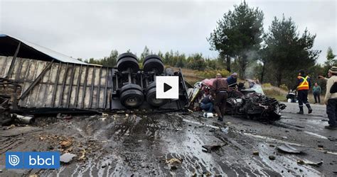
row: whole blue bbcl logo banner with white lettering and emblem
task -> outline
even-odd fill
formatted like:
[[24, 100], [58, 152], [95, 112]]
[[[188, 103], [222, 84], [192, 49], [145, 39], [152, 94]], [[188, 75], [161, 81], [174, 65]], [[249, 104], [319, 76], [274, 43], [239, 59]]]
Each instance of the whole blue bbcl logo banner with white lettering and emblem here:
[[60, 153], [6, 152], [6, 169], [60, 169]]

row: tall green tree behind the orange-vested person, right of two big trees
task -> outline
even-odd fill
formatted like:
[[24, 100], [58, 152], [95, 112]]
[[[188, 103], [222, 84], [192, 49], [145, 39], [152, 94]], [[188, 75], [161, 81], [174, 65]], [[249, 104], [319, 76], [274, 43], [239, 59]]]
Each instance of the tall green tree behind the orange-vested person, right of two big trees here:
[[292, 87], [294, 76], [299, 69], [309, 69], [314, 66], [319, 57], [319, 50], [312, 50], [316, 35], [311, 35], [306, 29], [302, 35], [297, 31], [291, 18], [282, 20], [274, 17], [272, 25], [265, 36], [264, 59], [269, 62], [269, 74], [273, 75], [274, 84], [282, 82]]

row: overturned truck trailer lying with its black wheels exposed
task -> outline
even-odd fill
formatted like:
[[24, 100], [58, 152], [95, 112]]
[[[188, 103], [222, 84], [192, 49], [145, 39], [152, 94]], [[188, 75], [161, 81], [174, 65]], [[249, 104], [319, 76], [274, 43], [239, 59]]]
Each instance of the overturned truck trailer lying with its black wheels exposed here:
[[[156, 76], [178, 76], [179, 98], [156, 99]], [[11, 94], [14, 111], [26, 114], [85, 113], [92, 110], [181, 110], [188, 105], [180, 70], [165, 69], [149, 55], [139, 68], [136, 55], [124, 53], [117, 67], [87, 64], [8, 35], [0, 35], [0, 97]], [[4, 81], [18, 91], [8, 93]], [[13, 85], [13, 84], [12, 84]]]

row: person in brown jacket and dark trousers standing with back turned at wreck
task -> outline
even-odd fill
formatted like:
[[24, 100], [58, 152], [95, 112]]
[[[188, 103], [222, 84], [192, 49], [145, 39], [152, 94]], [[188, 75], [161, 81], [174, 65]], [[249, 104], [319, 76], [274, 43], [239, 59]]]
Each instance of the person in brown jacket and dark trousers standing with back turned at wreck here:
[[228, 98], [228, 83], [222, 78], [221, 74], [216, 74], [213, 81], [213, 94], [215, 94], [214, 109], [218, 114], [218, 121], [223, 122], [223, 116], [226, 110], [226, 101]]

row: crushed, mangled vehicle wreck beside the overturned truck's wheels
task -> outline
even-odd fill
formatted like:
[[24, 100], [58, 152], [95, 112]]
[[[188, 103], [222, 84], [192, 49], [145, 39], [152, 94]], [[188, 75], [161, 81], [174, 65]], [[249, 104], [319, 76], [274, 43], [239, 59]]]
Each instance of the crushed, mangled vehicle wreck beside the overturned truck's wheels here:
[[[226, 78], [223, 78], [226, 79]], [[189, 108], [200, 110], [199, 101], [204, 94], [210, 93], [215, 79], [204, 79], [196, 83], [193, 89], [188, 90]], [[275, 98], [264, 95], [262, 86], [247, 79], [250, 89], [230, 89], [226, 105], [226, 114], [238, 115], [256, 120], [278, 120], [281, 118], [281, 110], [286, 105], [279, 103]]]

